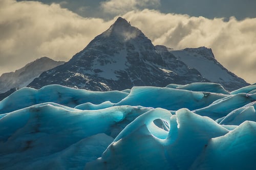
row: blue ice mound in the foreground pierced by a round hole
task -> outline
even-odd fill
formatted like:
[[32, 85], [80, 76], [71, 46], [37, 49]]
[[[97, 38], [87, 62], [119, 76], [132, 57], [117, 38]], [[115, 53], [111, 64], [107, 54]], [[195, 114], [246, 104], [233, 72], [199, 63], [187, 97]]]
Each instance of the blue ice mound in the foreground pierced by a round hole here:
[[[170, 124], [167, 134], [154, 126], [153, 120], [157, 118]], [[228, 132], [214, 120], [187, 109], [178, 110], [174, 116], [166, 110], [155, 109], [124, 128], [101, 158], [88, 163], [86, 168], [188, 169], [209, 139]]]

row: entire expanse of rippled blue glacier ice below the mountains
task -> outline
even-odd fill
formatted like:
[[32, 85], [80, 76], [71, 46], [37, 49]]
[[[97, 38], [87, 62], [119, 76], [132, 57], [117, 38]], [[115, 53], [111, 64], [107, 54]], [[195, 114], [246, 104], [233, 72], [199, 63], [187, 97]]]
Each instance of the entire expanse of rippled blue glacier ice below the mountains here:
[[255, 91], [24, 87], [0, 102], [0, 169], [254, 169]]

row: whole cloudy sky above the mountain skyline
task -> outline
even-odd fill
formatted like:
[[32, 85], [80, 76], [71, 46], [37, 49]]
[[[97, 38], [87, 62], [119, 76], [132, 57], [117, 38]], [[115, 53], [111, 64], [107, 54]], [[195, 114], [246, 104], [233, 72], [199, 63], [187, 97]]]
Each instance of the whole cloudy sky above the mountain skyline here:
[[154, 45], [211, 48], [256, 83], [255, 8], [254, 0], [1, 0], [0, 75], [44, 56], [68, 61], [121, 16]]

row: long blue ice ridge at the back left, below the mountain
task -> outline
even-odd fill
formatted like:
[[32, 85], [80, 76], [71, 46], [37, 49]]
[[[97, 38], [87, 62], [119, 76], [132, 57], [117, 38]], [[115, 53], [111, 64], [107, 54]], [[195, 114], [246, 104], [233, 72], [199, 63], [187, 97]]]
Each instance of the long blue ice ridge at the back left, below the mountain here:
[[45, 102], [54, 102], [69, 107], [87, 102], [93, 104], [100, 104], [105, 101], [117, 103], [128, 94], [122, 91], [101, 92], [74, 89], [61, 85], [48, 85], [39, 90], [24, 87], [0, 102], [0, 114]]

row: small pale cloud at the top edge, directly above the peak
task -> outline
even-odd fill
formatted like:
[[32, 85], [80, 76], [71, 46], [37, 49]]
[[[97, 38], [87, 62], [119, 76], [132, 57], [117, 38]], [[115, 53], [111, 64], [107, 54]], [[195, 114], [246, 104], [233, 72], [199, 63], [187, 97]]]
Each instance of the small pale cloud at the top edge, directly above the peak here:
[[110, 0], [101, 3], [101, 8], [105, 13], [111, 14], [125, 14], [126, 12], [137, 10], [140, 8], [159, 6], [160, 0]]

